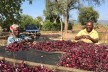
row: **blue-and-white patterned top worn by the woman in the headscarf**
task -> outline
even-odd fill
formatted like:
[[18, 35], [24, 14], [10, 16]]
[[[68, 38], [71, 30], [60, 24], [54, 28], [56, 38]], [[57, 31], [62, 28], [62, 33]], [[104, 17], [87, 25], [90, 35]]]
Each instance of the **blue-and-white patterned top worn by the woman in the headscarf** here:
[[23, 39], [31, 39], [31, 38], [27, 37], [27, 36], [24, 36], [24, 35], [20, 35], [18, 38], [14, 38], [12, 35], [10, 35], [8, 37], [7, 44], [10, 44], [10, 43], [13, 43], [13, 42], [19, 42]]

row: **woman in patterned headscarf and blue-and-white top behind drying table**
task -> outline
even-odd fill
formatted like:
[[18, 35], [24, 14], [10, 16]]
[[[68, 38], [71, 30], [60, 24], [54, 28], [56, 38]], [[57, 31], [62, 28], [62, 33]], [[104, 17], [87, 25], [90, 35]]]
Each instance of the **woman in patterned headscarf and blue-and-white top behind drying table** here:
[[11, 25], [10, 30], [11, 30], [12, 34], [8, 37], [7, 44], [10, 44], [13, 42], [25, 42], [25, 41], [32, 40], [32, 38], [30, 38], [30, 37], [20, 35], [19, 25], [17, 25], [17, 24]]

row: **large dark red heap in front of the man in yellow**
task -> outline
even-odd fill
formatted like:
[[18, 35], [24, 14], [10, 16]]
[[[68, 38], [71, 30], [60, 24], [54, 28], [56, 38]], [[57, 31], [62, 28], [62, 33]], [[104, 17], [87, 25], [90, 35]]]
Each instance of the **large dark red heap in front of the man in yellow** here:
[[96, 72], [108, 72], [108, 47], [78, 42], [61, 57], [58, 65]]

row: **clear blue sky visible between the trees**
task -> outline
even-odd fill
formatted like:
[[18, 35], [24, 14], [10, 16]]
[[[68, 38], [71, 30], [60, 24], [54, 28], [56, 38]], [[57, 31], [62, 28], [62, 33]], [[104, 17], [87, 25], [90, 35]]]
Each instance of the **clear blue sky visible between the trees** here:
[[[94, 10], [99, 13], [98, 20], [108, 20], [108, 0], [105, 1], [101, 6], [94, 6]], [[27, 14], [36, 18], [41, 16], [44, 18], [43, 10], [45, 9], [45, 0], [33, 0], [32, 4], [28, 2], [24, 2], [22, 4], [23, 14]], [[77, 20], [78, 11], [71, 10], [70, 11], [70, 19]]]

